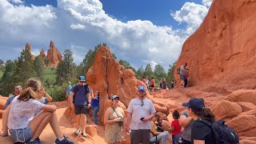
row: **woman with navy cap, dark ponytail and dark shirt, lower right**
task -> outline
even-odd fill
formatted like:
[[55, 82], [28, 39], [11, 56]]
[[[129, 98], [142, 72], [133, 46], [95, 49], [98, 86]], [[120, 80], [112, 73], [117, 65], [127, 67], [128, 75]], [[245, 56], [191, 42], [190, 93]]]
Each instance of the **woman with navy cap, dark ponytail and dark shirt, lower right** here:
[[190, 117], [194, 119], [191, 128], [191, 138], [194, 144], [215, 144], [214, 131], [206, 122], [215, 122], [214, 114], [205, 107], [202, 98], [191, 98], [189, 102], [183, 103], [187, 107]]

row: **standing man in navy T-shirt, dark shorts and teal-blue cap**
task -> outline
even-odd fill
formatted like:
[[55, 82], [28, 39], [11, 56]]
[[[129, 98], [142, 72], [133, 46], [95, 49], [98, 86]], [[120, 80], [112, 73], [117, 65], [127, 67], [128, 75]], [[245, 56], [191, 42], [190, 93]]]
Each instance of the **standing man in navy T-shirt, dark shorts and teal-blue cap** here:
[[71, 89], [70, 105], [74, 107], [74, 113], [77, 118], [77, 130], [74, 134], [79, 134], [82, 131], [82, 136], [86, 137], [86, 114], [90, 108], [90, 86], [86, 84], [85, 76], [81, 75], [78, 78], [78, 84]]

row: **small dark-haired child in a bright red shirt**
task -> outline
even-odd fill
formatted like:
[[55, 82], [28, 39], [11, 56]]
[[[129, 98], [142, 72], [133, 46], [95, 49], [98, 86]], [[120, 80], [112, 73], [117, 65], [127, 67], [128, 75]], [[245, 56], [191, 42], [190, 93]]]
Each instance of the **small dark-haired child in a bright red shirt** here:
[[178, 144], [178, 139], [181, 138], [181, 133], [182, 133], [182, 126], [179, 126], [179, 123], [178, 123], [178, 118], [179, 118], [178, 110], [174, 110], [173, 118], [174, 118], [174, 121], [171, 122], [170, 131], [173, 138], [173, 144]]

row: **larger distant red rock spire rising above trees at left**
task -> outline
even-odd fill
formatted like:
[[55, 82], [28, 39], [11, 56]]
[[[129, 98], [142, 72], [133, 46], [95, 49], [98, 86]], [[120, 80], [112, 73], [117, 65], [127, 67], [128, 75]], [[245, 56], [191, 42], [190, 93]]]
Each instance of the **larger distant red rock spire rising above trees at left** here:
[[58, 63], [62, 61], [62, 54], [58, 51], [54, 42], [50, 41], [50, 50], [47, 51], [47, 56], [50, 60], [51, 66], [57, 67]]

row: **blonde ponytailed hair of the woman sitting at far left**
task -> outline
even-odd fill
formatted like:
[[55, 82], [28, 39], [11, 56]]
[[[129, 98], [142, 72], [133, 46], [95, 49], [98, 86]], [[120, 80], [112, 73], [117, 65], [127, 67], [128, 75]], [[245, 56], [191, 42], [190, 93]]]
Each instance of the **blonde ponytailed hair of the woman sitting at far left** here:
[[42, 88], [41, 82], [36, 78], [30, 78], [26, 81], [25, 90], [19, 95], [18, 100], [28, 101], [30, 98], [38, 99], [39, 95], [36, 93], [37, 90]]

